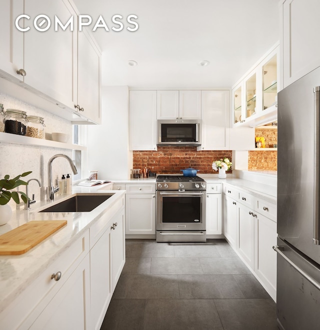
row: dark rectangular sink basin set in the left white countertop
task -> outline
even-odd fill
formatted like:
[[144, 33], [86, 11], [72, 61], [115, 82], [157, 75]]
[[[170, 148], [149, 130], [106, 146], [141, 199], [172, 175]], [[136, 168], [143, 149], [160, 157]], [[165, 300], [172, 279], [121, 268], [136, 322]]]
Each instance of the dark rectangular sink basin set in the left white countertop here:
[[44, 208], [39, 212], [90, 212], [92, 209], [110, 198], [109, 194], [78, 194], [66, 200], [62, 200], [52, 206]]

